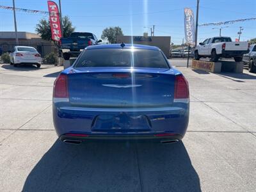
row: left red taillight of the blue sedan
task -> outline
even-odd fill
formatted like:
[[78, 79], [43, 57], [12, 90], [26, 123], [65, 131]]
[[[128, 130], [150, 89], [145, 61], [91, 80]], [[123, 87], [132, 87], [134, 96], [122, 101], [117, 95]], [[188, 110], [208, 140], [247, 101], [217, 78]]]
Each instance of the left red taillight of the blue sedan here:
[[68, 98], [68, 78], [66, 75], [60, 74], [54, 81], [53, 97]]

